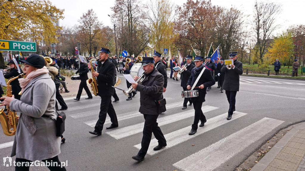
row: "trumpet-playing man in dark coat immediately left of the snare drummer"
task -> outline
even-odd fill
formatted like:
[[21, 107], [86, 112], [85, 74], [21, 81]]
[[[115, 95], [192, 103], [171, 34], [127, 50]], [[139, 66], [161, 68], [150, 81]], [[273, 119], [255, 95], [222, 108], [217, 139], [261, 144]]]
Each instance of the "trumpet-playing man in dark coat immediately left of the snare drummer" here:
[[[186, 68], [184, 68], [185, 65], [182, 65], [183, 71], [181, 73], [181, 87], [183, 88], [183, 91], [187, 91], [186, 86], [188, 83], [188, 79], [191, 76], [191, 71], [192, 69], [195, 67], [195, 65], [192, 64], [192, 56], [188, 55], [185, 57], [186, 59]], [[182, 109], [186, 109], [186, 104], [188, 103], [188, 101], [190, 102], [190, 104], [188, 104], [189, 106], [192, 105], [192, 101], [191, 98], [184, 98], [184, 102], [183, 102], [183, 108]]]

